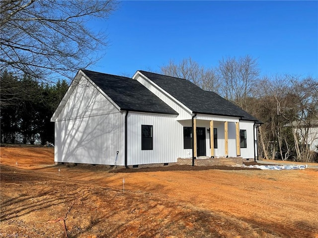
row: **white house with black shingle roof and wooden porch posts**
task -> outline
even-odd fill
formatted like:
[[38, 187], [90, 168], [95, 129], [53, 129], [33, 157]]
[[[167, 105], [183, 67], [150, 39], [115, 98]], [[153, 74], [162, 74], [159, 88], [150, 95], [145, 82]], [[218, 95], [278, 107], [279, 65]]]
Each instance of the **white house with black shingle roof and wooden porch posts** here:
[[[79, 70], [52, 116], [55, 162], [135, 166], [257, 157], [257, 119], [188, 80]], [[192, 150], [194, 148], [194, 150]]]

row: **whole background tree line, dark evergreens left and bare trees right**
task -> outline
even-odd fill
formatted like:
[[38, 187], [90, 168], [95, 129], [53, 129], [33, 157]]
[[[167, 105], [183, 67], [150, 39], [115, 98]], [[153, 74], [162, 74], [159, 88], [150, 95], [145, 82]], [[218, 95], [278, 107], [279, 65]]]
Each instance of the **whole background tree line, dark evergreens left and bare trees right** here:
[[[311, 76], [260, 76], [256, 59], [229, 57], [206, 68], [191, 58], [169, 61], [160, 73], [185, 78], [214, 91], [247, 111], [263, 124], [258, 127], [259, 157], [318, 162], [318, 80]], [[4, 70], [1, 75], [1, 143], [54, 141], [55, 109], [68, 89], [66, 80], [41, 83], [24, 74]]]

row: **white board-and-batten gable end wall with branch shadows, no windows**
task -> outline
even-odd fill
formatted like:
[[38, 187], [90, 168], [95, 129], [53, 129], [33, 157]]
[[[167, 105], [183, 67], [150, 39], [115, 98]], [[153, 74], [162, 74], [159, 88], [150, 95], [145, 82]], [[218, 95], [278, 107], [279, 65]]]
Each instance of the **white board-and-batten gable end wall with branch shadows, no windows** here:
[[55, 119], [54, 160], [114, 165], [119, 151], [117, 165], [124, 165], [124, 129], [125, 114], [81, 77]]

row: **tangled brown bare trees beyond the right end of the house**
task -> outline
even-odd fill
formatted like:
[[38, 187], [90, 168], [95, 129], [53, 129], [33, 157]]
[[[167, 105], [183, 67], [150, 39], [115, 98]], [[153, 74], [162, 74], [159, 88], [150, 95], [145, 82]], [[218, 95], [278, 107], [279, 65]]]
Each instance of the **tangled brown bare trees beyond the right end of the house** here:
[[[252, 91], [247, 111], [264, 122], [259, 128], [263, 158], [315, 160], [318, 133], [318, 81], [291, 75], [263, 77]], [[314, 124], [314, 125], [313, 125]]]

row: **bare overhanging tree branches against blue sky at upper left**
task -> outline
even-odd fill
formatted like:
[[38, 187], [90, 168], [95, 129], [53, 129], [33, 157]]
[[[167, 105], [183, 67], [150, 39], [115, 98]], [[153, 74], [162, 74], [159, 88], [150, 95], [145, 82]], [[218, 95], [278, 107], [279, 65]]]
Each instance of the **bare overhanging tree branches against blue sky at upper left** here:
[[[98, 59], [107, 45], [105, 33], [88, 22], [107, 19], [113, 0], [2, 0], [0, 3], [1, 71], [72, 77]], [[92, 56], [92, 53], [94, 56]]]

